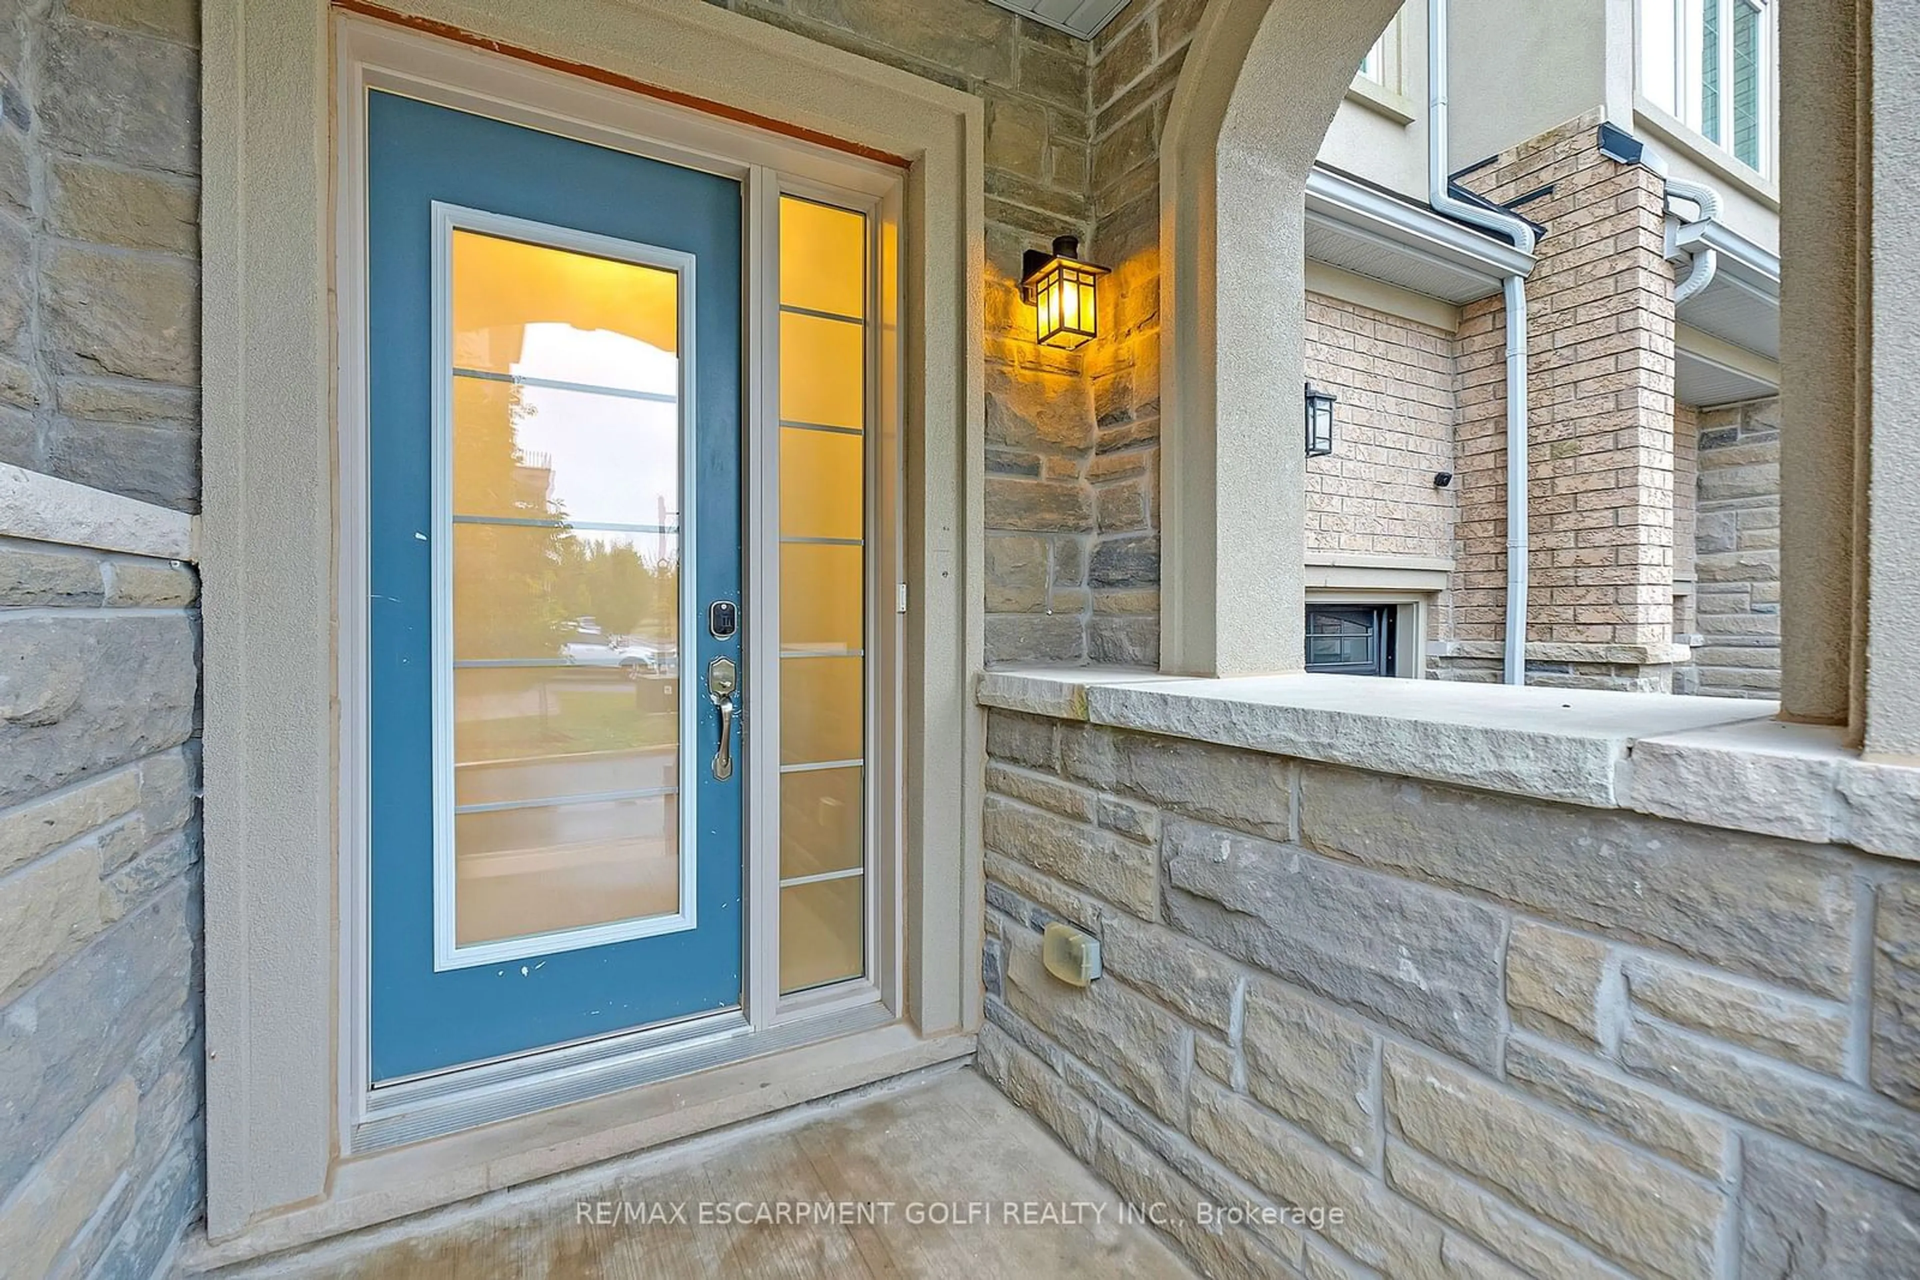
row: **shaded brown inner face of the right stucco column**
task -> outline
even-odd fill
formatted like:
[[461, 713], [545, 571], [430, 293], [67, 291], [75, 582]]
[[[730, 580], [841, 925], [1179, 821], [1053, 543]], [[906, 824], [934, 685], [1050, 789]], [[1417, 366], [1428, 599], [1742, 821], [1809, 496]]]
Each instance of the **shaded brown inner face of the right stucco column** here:
[[1855, 324], [1864, 263], [1853, 6], [1780, 6], [1780, 706], [1849, 723]]

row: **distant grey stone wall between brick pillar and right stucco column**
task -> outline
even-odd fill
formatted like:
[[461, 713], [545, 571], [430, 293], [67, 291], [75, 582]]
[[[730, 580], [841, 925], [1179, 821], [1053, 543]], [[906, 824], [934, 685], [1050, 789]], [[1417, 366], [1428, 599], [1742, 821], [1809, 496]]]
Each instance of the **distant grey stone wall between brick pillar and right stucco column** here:
[[1695, 693], [1780, 697], [1780, 401], [1699, 415]]

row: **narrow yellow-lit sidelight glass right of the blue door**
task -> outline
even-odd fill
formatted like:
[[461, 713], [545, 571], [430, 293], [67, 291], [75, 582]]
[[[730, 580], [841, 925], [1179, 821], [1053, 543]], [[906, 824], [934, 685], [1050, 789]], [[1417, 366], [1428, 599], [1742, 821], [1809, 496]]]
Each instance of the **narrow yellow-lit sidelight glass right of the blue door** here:
[[780, 990], [866, 971], [868, 221], [780, 200]]

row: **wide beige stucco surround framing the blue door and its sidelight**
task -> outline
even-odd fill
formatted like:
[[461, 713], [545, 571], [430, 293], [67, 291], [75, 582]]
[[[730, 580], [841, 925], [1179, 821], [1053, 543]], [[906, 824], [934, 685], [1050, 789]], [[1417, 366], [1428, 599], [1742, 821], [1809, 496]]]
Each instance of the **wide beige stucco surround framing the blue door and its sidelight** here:
[[[881, 1000], [797, 1009], [822, 1021], [768, 1017], [760, 1031], [735, 1032], [764, 1034], [755, 1057], [685, 1061], [672, 1079], [637, 1086], [653, 1079], [641, 1071], [634, 1088], [557, 1105], [580, 1096], [561, 1088], [589, 1075], [576, 1063], [580, 1071], [555, 1073], [557, 1092], [543, 1100], [551, 1109], [438, 1138], [422, 1134], [451, 1125], [407, 1128], [436, 1113], [438, 1100], [422, 1096], [419, 1107], [388, 1117], [388, 1138], [405, 1146], [361, 1142], [355, 1100], [365, 1094], [342, 1069], [353, 1061], [344, 1034], [353, 1023], [342, 1013], [359, 979], [349, 981], [355, 948], [340, 944], [344, 925], [357, 919], [342, 896], [351, 889], [344, 854], [363, 829], [359, 796], [342, 791], [349, 762], [338, 754], [351, 750], [355, 729], [357, 712], [340, 697], [355, 687], [344, 683], [355, 620], [340, 612], [349, 597], [336, 599], [361, 549], [355, 520], [346, 518], [344, 478], [355, 459], [334, 449], [336, 370], [340, 386], [357, 376], [353, 353], [334, 345], [336, 305], [346, 324], [357, 301], [332, 292], [336, 238], [355, 219], [332, 217], [346, 194], [334, 188], [334, 140], [351, 134], [344, 117], [334, 129], [326, 104], [346, 61], [334, 58], [342, 31], [405, 35], [396, 31], [405, 23], [328, 21], [323, 0], [207, 0], [202, 566], [213, 1261], [284, 1249], [966, 1054], [981, 1015], [983, 743], [968, 687], [981, 647], [981, 608], [970, 591], [983, 560], [981, 104], [708, 6], [409, 2], [432, 15], [436, 31], [486, 33], [488, 52], [474, 48], [478, 38], [407, 38], [484, 63], [490, 86], [516, 86], [476, 94], [451, 88], [463, 75], [426, 77], [436, 94], [468, 92], [490, 115], [526, 102], [532, 90], [518, 86], [541, 81], [541, 92], [564, 98], [547, 102], [547, 113], [564, 117], [574, 134], [609, 130], [605, 119], [624, 119], [622, 111], [672, 121], [668, 130], [647, 125], [626, 134], [616, 125], [607, 132], [614, 146], [664, 132], [685, 159], [726, 157], [803, 180], [818, 180], [806, 165], [820, 165], [833, 186], [845, 186], [852, 169], [872, 171], [862, 152], [908, 157], [895, 207], [899, 388], [912, 428], [897, 455], [910, 520], [893, 545], [912, 610], [897, 622], [906, 743], [887, 766], [900, 779], [900, 862], [887, 890], [899, 900], [902, 940], [872, 967]], [[570, 77], [557, 67], [599, 73]], [[756, 196], [764, 200], [766, 188]], [[862, 1031], [862, 1009], [881, 1009], [887, 1023]], [[630, 1065], [645, 1061], [637, 1054]], [[682, 1075], [695, 1065], [699, 1075]], [[478, 1109], [461, 1123], [486, 1119], [484, 1092], [465, 1102]], [[451, 1113], [438, 1109], [442, 1121]]]

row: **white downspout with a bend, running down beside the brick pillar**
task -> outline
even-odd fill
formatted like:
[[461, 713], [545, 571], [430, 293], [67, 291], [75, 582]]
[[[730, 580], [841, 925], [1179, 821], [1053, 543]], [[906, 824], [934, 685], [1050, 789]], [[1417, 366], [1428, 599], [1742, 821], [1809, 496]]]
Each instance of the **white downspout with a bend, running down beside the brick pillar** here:
[[[1482, 209], [1448, 190], [1446, 0], [1427, 0], [1427, 201], [1448, 217], [1484, 226], [1534, 251], [1534, 226], [1513, 213]], [[1501, 679], [1526, 683], [1526, 276], [1501, 284], [1507, 305], [1507, 645]]]

